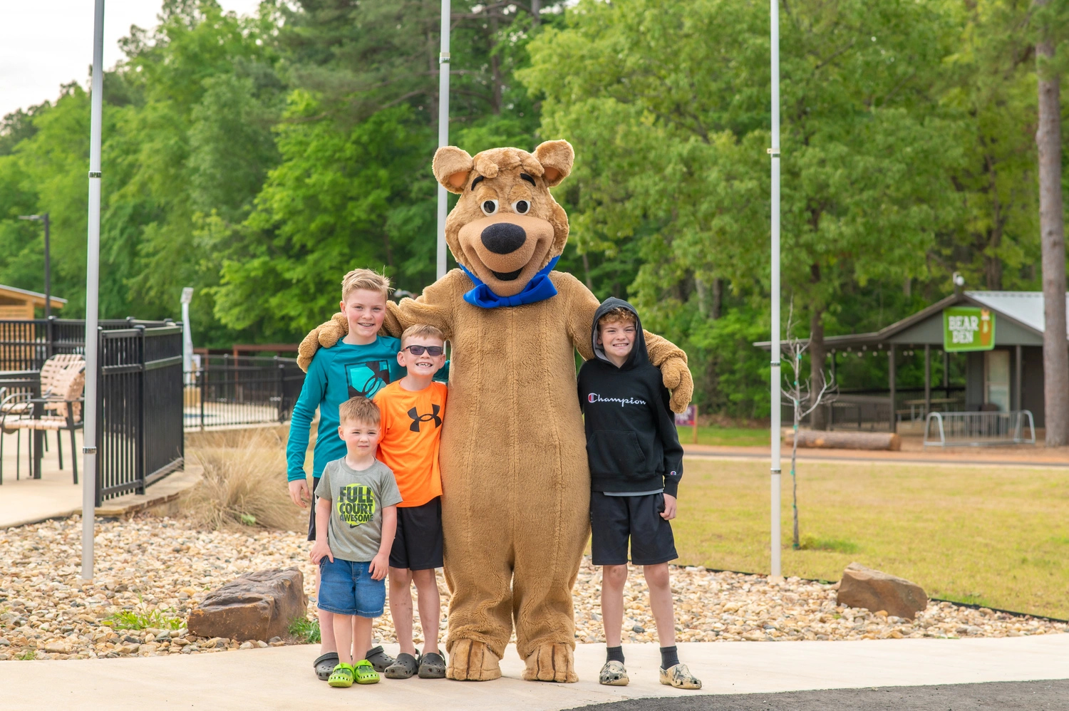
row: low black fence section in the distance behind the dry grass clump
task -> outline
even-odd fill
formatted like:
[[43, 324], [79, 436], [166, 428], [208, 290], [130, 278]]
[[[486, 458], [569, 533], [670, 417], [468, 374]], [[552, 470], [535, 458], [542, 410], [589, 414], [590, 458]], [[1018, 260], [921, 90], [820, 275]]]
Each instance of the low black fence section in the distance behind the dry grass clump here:
[[185, 426], [284, 422], [304, 384], [293, 358], [201, 356], [200, 367], [186, 373]]

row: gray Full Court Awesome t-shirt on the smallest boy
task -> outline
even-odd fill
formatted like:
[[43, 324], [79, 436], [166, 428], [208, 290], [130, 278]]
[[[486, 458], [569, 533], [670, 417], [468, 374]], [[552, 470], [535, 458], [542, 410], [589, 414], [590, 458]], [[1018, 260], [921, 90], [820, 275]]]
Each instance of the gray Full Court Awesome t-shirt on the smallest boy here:
[[354, 562], [369, 562], [378, 554], [383, 509], [402, 500], [393, 473], [378, 460], [362, 472], [350, 468], [344, 459], [328, 462], [315, 495], [330, 499], [330, 553]]

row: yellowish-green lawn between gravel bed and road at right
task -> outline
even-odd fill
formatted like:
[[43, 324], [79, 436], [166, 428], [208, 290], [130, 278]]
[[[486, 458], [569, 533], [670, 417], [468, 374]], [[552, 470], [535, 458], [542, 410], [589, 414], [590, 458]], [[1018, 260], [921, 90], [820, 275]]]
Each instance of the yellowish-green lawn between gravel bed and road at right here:
[[[679, 562], [769, 572], [769, 483], [766, 463], [688, 459]], [[837, 581], [856, 560], [929, 597], [1069, 618], [1069, 470], [806, 462], [799, 501], [794, 551], [785, 472], [785, 575]]]

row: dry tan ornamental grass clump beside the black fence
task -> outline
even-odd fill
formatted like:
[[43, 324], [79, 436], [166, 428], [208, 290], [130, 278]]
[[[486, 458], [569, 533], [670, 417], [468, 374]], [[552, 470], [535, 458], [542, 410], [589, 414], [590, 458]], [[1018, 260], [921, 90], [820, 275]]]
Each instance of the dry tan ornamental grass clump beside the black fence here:
[[181, 507], [199, 526], [300, 527], [300, 510], [286, 491], [285, 443], [277, 432], [246, 430], [205, 440], [189, 454], [204, 474], [183, 496]]

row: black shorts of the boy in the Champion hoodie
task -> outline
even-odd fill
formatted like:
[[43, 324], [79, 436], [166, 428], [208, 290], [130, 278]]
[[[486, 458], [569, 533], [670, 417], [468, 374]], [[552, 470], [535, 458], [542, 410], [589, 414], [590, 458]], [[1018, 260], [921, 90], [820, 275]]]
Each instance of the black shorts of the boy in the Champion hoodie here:
[[590, 492], [590, 553], [595, 566], [623, 566], [631, 562], [655, 566], [679, 557], [671, 524], [661, 517], [664, 494], [606, 496]]

